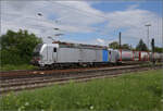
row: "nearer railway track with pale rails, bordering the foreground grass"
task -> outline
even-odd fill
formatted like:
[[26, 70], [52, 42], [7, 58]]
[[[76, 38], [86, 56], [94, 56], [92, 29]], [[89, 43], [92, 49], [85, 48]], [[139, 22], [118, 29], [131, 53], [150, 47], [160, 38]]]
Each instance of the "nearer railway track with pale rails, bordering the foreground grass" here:
[[5, 94], [10, 91], [18, 91], [24, 89], [34, 89], [45, 86], [50, 86], [54, 84], [66, 84], [71, 79], [74, 82], [85, 82], [92, 78], [100, 77], [112, 77], [118, 76], [123, 73], [146, 71], [150, 69], [158, 69], [160, 65], [154, 67], [149, 67], [146, 65], [126, 65], [126, 66], [115, 66], [115, 67], [100, 67], [100, 69], [89, 69], [82, 71], [71, 71], [71, 72], [53, 72], [50, 74], [38, 74], [33, 76], [23, 76], [18, 78], [1, 78], [0, 94]]

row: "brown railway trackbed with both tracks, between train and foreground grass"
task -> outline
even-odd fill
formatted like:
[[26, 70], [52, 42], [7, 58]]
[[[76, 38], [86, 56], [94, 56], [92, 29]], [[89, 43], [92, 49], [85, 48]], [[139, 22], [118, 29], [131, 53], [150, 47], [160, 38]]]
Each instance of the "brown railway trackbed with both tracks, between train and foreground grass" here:
[[140, 72], [160, 69], [160, 65], [125, 65], [113, 67], [87, 67], [50, 71], [18, 71], [1, 73], [0, 92], [20, 91], [50, 86], [53, 84], [67, 84], [70, 81], [87, 82], [95, 78], [116, 77], [128, 72]]

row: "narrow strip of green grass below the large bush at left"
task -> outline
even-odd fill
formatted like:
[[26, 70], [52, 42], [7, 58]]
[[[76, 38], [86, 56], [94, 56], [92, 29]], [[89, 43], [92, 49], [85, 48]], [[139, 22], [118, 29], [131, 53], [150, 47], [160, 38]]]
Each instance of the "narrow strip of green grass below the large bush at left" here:
[[37, 69], [34, 65], [29, 65], [29, 64], [21, 64], [21, 65], [11, 65], [11, 64], [7, 64], [3, 66], [0, 66], [0, 71], [14, 71], [14, 70], [35, 70]]

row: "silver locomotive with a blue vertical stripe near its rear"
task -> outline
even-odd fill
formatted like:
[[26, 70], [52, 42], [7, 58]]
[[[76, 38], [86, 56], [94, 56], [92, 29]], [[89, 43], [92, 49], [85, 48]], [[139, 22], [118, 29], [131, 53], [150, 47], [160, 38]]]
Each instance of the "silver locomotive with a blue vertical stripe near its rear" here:
[[108, 47], [53, 42], [40, 44], [34, 50], [32, 63], [38, 66], [100, 64], [117, 62], [118, 52]]

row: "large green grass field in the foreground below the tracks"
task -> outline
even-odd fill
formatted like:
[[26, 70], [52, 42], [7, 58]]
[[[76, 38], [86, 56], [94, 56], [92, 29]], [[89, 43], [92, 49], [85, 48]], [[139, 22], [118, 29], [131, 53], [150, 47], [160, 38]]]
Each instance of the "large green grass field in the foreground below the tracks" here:
[[11, 92], [0, 98], [0, 110], [161, 111], [162, 79], [162, 70], [156, 70]]

